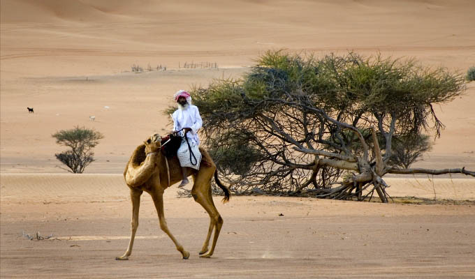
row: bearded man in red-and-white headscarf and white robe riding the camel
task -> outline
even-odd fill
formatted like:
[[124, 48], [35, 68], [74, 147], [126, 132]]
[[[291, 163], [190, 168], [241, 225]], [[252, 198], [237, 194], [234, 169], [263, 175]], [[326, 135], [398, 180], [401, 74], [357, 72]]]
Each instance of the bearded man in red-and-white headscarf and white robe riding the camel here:
[[183, 174], [183, 181], [178, 186], [181, 188], [189, 183], [187, 167], [200, 168], [201, 153], [198, 149], [200, 139], [197, 132], [203, 125], [203, 121], [198, 107], [191, 105], [191, 96], [187, 91], [177, 91], [173, 97], [178, 105], [178, 110], [172, 115], [173, 133], [182, 137], [182, 144], [177, 151]]

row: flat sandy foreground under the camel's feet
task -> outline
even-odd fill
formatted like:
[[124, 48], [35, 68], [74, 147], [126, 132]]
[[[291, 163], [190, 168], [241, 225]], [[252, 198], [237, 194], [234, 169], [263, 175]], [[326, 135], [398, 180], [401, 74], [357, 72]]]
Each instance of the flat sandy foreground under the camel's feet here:
[[[200, 259], [209, 218], [191, 198], [166, 190], [161, 232], [142, 196], [128, 262], [131, 204], [120, 174], [1, 174], [2, 278], [473, 278], [474, 204], [380, 204], [299, 197], [231, 197], [214, 203], [224, 218], [212, 259]], [[388, 179], [403, 193], [425, 191]], [[443, 197], [475, 198], [474, 183], [437, 181]], [[446, 190], [444, 190], [446, 189]], [[397, 195], [391, 192], [390, 195]], [[461, 201], [458, 201], [461, 202]], [[282, 216], [281, 216], [282, 215]], [[30, 241], [23, 234], [50, 236]], [[87, 266], [87, 268], [85, 268]]]

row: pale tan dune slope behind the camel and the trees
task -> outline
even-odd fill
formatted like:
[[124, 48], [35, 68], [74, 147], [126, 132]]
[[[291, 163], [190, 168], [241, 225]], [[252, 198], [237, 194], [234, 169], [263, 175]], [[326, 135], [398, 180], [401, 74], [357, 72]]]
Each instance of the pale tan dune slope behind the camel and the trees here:
[[[80, 125], [105, 135], [86, 172], [121, 173], [136, 144], [170, 130], [161, 112], [173, 92], [239, 77], [269, 49], [381, 52], [465, 71], [475, 64], [474, 5], [1, 0], [1, 172], [65, 172], [55, 167], [61, 148], [50, 135]], [[178, 70], [185, 62], [219, 70]], [[169, 70], [126, 73], [133, 64]], [[475, 168], [474, 104], [469, 84], [465, 96], [435, 107], [447, 128], [417, 166]]]

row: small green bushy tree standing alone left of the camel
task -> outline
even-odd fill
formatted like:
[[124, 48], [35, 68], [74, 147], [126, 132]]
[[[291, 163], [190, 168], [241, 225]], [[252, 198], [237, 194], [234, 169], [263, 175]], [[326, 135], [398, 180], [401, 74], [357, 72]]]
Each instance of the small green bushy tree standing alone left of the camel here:
[[95, 130], [76, 126], [70, 130], [60, 130], [52, 137], [56, 139], [57, 144], [70, 148], [67, 151], [56, 153], [54, 156], [71, 169], [66, 169], [68, 172], [82, 174], [87, 165], [94, 162], [92, 149], [103, 138], [103, 135]]

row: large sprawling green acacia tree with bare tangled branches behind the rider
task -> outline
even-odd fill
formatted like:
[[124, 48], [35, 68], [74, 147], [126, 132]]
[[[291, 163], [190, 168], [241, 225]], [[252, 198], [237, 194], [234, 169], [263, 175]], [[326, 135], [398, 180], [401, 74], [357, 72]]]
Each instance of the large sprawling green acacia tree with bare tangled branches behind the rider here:
[[217, 80], [191, 95], [205, 145], [235, 193], [362, 200], [367, 190], [387, 202], [388, 173], [475, 175], [400, 168], [393, 153], [395, 139], [421, 138], [423, 130], [439, 136], [444, 126], [433, 105], [464, 89], [461, 75], [411, 59], [268, 52], [242, 79]]

